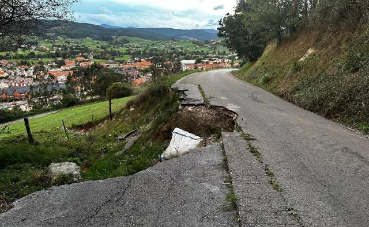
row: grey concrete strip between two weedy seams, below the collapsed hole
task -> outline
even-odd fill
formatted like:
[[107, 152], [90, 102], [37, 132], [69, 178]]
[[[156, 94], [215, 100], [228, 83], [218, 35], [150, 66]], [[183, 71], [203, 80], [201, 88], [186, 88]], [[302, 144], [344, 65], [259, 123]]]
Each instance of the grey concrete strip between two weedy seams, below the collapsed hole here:
[[298, 226], [284, 210], [282, 195], [268, 184], [263, 165], [249, 151], [247, 141], [237, 132], [223, 132], [222, 138], [234, 193], [238, 197], [241, 225]]

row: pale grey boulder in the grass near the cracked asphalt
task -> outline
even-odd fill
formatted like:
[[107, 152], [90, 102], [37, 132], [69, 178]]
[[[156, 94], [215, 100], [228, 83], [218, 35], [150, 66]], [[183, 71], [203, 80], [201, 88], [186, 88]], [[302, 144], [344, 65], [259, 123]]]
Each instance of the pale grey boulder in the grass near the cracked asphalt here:
[[75, 182], [82, 180], [81, 168], [73, 162], [52, 163], [49, 166], [49, 170], [52, 180], [55, 180], [62, 174], [71, 177]]

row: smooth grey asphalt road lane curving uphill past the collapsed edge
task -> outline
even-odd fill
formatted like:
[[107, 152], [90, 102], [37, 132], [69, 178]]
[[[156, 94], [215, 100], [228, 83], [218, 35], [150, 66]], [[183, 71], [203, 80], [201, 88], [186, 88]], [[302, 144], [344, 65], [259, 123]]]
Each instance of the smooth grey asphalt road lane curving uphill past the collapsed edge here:
[[369, 226], [369, 139], [233, 77], [190, 75], [211, 104], [239, 114], [303, 226]]

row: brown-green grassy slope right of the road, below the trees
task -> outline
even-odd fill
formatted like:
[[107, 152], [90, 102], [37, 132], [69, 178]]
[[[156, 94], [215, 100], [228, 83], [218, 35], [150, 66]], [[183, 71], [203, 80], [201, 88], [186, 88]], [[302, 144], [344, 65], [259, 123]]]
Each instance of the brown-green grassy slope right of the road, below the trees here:
[[[324, 117], [369, 130], [369, 38], [355, 31], [305, 31], [271, 43], [236, 76]], [[300, 61], [308, 51], [315, 52]]]

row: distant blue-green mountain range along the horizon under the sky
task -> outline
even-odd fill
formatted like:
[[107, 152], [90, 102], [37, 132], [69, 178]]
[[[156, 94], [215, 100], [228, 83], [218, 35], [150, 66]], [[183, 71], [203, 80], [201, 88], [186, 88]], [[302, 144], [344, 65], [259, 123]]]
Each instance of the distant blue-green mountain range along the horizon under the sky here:
[[94, 25], [60, 21], [47, 23], [49, 36], [68, 36], [72, 39], [92, 36], [129, 36], [147, 40], [212, 40], [218, 38], [217, 30], [214, 29], [121, 28], [107, 24]]

